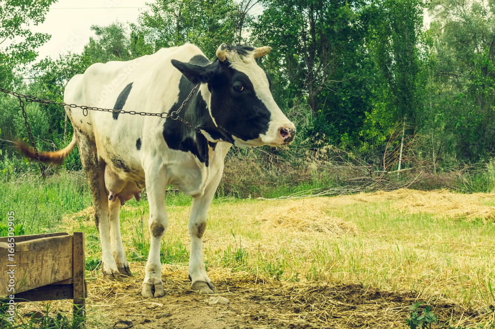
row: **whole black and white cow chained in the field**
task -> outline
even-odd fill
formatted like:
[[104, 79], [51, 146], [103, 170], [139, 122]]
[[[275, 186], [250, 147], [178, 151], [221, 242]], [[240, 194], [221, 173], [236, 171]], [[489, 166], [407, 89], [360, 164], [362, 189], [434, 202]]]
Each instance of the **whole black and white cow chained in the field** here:
[[41, 154], [44, 161], [61, 162], [79, 146], [94, 197], [105, 278], [131, 275], [119, 210], [125, 201], [139, 200], [146, 187], [151, 245], [142, 294], [164, 295], [160, 242], [168, 227], [165, 190], [171, 184], [193, 196], [188, 225], [192, 288], [217, 291], [204, 269], [202, 236], [225, 155], [232, 145], [284, 145], [296, 133], [273, 100], [270, 78], [256, 64], [270, 50], [222, 44], [210, 61], [194, 45], [163, 48], [127, 62], [94, 64], [69, 81], [66, 103], [152, 113], [176, 111], [199, 84], [179, 116], [200, 133], [171, 118], [91, 110], [84, 116], [81, 109], [66, 106], [73, 140], [60, 151]]

